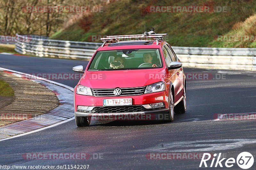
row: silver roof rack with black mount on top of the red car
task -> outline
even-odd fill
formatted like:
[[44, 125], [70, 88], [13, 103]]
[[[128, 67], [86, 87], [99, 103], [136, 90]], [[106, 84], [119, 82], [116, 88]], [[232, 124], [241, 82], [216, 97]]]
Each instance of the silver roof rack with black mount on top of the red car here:
[[100, 40], [103, 41], [103, 44], [101, 47], [103, 47], [107, 42], [109, 41], [119, 41], [118, 39], [123, 39], [123, 38], [139, 38], [141, 40], [142, 38], [153, 38], [156, 41], [156, 45], [159, 44], [160, 40], [164, 40], [164, 35], [168, 35], [167, 33], [155, 33], [154, 28], [150, 28], [149, 32], [144, 32], [143, 34], [131, 34], [131, 35], [111, 35], [107, 36], [106, 38], [100, 38]]

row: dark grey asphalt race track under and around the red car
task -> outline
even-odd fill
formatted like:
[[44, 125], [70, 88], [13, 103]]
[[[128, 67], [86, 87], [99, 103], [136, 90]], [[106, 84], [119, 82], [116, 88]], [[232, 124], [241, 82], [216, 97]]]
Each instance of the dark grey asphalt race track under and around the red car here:
[[[68, 59], [0, 55], [0, 67], [25, 73], [73, 73], [88, 62]], [[256, 112], [256, 72], [184, 68], [210, 80], [187, 80], [187, 112], [174, 122], [93, 121], [77, 128], [75, 120], [0, 142], [0, 165], [90, 165], [89, 169], [198, 169], [201, 159], [153, 160], [149, 153], [217, 153], [235, 158], [254, 156], [256, 120], [216, 121], [214, 114]], [[219, 79], [223, 76], [222, 79]], [[197, 77], [198, 78], [198, 77]], [[53, 80], [74, 87], [78, 80]], [[103, 154], [103, 159], [26, 160], [24, 153]], [[96, 154], [95, 154], [96, 153]], [[216, 162], [216, 161], [215, 161]], [[223, 161], [224, 162], [224, 161]], [[222, 165], [225, 167], [225, 162]], [[208, 167], [211, 161], [207, 162]], [[214, 164], [215, 165], [215, 164]], [[211, 169], [226, 169], [218, 166]], [[240, 169], [235, 163], [232, 168]]]

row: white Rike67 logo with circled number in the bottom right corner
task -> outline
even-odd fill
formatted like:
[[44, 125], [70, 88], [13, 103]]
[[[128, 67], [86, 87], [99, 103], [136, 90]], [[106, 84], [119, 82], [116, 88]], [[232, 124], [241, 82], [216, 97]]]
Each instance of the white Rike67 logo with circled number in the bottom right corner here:
[[[215, 159], [217, 158], [216, 162]], [[208, 167], [207, 166], [207, 161], [211, 159], [211, 154], [210, 153], [204, 153], [200, 165], [199, 167], [202, 167], [202, 165], [204, 164], [203, 167]], [[226, 159], [226, 161], [224, 161]], [[215, 163], [215, 166], [214, 166]], [[230, 168], [232, 166], [234, 166], [234, 164], [237, 164], [240, 168], [242, 169], [249, 169], [250, 167], [252, 167], [253, 163], [254, 163], [254, 158], [252, 156], [251, 153], [249, 152], [242, 152], [240, 153], [236, 159], [235, 158], [222, 158], [221, 159], [221, 153], [219, 153], [219, 155], [217, 155], [217, 153], [213, 154], [213, 158], [212, 158], [212, 162], [210, 167], [223, 167], [222, 164], [224, 164], [226, 167]]]

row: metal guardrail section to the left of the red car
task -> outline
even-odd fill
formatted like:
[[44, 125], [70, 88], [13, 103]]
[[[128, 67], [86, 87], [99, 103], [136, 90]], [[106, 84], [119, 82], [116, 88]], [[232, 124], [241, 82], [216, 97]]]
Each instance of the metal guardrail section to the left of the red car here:
[[15, 51], [21, 54], [29, 54], [46, 57], [65, 57], [65, 58], [88, 58], [90, 59], [95, 50], [102, 43], [63, 41], [50, 39], [36, 39], [32, 37], [22, 37], [16, 34], [18, 39], [15, 44]]

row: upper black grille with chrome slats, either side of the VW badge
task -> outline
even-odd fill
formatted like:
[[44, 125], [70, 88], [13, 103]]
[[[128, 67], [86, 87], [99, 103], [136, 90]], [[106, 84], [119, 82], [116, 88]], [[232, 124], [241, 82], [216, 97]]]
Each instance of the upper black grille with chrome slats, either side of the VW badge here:
[[[145, 92], [146, 86], [144, 87], [130, 87], [120, 88], [122, 93], [119, 96], [132, 96], [141, 95]], [[93, 96], [116, 96], [114, 94], [115, 89], [92, 89]]]

